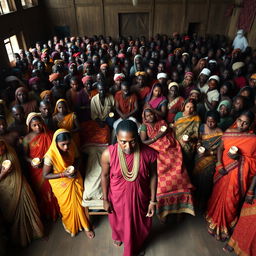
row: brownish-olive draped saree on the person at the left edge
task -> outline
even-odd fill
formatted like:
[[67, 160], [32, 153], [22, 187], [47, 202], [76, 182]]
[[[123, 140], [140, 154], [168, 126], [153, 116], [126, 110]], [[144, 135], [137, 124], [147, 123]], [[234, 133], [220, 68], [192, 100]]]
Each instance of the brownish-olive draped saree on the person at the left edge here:
[[0, 156], [0, 164], [8, 159], [13, 169], [0, 181], [0, 210], [4, 221], [9, 224], [12, 242], [27, 246], [32, 239], [43, 237], [43, 224], [36, 199], [22, 175], [17, 155], [10, 146], [5, 145], [7, 151]]

